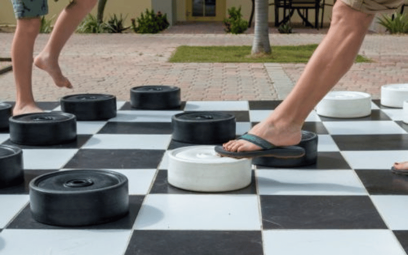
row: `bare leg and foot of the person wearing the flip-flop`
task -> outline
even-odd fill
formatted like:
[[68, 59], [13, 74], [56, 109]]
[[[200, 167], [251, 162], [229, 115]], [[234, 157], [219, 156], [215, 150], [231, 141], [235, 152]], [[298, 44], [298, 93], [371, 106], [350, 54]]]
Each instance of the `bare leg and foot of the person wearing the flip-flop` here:
[[[372, 20], [373, 15], [353, 10], [342, 1], [337, 1], [327, 35], [305, 66], [291, 93], [248, 133], [260, 136], [276, 146], [298, 144], [305, 118], [350, 69]], [[228, 151], [260, 149], [244, 140], [233, 140], [223, 147]]]

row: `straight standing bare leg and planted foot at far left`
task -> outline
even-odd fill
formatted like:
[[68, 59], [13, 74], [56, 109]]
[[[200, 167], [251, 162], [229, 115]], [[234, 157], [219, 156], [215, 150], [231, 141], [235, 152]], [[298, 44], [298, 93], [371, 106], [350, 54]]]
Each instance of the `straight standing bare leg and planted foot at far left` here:
[[13, 115], [42, 111], [35, 104], [31, 78], [34, 42], [39, 30], [39, 18], [17, 19], [17, 28], [11, 45], [11, 59], [17, 91]]

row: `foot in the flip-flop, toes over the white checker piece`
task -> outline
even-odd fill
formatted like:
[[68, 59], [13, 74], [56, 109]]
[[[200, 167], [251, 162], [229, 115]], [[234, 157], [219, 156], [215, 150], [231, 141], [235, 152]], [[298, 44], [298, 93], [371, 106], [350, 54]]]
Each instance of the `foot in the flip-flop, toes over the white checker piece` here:
[[[254, 125], [248, 134], [259, 136], [276, 146], [296, 145], [302, 138], [301, 126], [277, 127], [267, 121]], [[261, 147], [244, 140], [232, 140], [224, 143], [224, 150], [232, 152], [260, 150]]]

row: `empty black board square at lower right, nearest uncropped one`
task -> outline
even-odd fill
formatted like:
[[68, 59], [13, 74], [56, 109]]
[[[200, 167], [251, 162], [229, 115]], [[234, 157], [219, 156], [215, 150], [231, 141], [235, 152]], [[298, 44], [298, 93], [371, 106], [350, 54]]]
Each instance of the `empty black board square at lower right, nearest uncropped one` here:
[[387, 228], [368, 196], [261, 195], [263, 228]]

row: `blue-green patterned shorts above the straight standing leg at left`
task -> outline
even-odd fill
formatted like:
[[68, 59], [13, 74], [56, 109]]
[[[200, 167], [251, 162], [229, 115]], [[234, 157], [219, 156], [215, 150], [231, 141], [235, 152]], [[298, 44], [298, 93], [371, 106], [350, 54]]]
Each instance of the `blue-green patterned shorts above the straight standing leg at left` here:
[[16, 19], [33, 18], [48, 13], [47, 0], [11, 0]]

